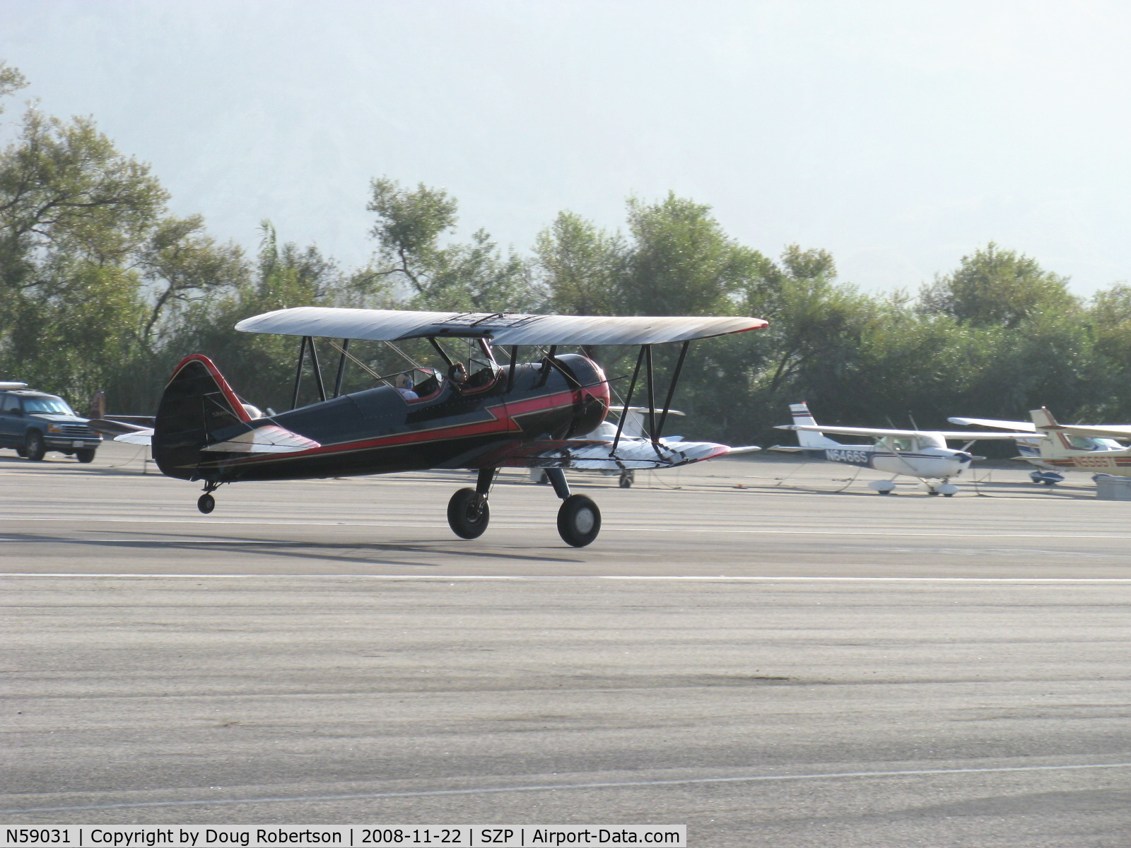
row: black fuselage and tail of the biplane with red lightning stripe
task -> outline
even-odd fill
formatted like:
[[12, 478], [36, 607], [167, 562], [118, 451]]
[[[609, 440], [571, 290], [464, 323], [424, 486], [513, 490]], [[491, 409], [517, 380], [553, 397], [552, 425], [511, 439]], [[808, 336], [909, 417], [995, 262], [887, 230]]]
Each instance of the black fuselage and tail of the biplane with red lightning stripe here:
[[[608, 412], [608, 382], [597, 363], [577, 354], [558, 356], [555, 362], [561, 370], [516, 365], [513, 377], [502, 367], [489, 384], [476, 388], [443, 380], [434, 393], [413, 400], [391, 386], [342, 395], [271, 416], [274, 424], [318, 447], [290, 453], [232, 453], [188, 447], [197, 441], [193, 433], [200, 416], [200, 401], [191, 398], [218, 393], [227, 403], [206, 401], [206, 406], [217, 414], [224, 407], [242, 412], [211, 362], [190, 356], [171, 381], [175, 386], [179, 377], [184, 380], [188, 404], [182, 406], [175, 397], [163, 400], [158, 429], [176, 435], [156, 443], [154, 458], [172, 477], [213, 483], [523, 465], [524, 442], [536, 440], [545, 450], [546, 440], [588, 433]], [[245, 432], [249, 423], [254, 419], [209, 430], [215, 441], [223, 442]], [[176, 441], [185, 448], [171, 448], [170, 442]]]

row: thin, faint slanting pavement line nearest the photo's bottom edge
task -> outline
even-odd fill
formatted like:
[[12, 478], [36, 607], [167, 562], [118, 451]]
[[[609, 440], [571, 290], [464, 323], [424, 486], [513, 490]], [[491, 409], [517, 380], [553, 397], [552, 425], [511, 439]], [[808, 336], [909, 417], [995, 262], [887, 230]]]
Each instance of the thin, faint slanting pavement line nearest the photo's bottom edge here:
[[684, 778], [675, 780], [622, 780], [594, 784], [545, 784], [537, 786], [489, 786], [475, 789], [420, 789], [399, 793], [351, 793], [347, 795], [299, 795], [280, 798], [209, 798], [198, 801], [139, 801], [119, 804], [75, 804], [54, 807], [0, 810], [0, 813], [58, 813], [69, 810], [121, 810], [123, 807], [208, 806], [209, 804], [293, 804], [295, 802], [354, 801], [372, 798], [421, 798], [437, 795], [487, 795], [497, 793], [556, 791], [559, 789], [621, 789], [644, 786], [694, 786], [703, 784], [750, 784], [786, 780], [829, 780], [836, 778], [917, 777], [925, 775], [992, 775], [1020, 771], [1079, 771], [1082, 769], [1126, 769], [1131, 762], [1087, 763], [1080, 765], [999, 765], [981, 769], [906, 769], [901, 771], [840, 771], [817, 775], [749, 775], [728, 778]]

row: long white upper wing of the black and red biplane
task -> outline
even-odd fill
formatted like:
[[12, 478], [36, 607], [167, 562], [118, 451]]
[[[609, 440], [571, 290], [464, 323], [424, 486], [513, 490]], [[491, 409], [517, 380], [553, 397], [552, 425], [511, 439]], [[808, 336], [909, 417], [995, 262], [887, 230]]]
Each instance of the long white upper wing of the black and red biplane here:
[[656, 345], [757, 330], [766, 325], [760, 318], [524, 315], [296, 306], [245, 318], [235, 329], [372, 341], [452, 336], [486, 338], [495, 345]]

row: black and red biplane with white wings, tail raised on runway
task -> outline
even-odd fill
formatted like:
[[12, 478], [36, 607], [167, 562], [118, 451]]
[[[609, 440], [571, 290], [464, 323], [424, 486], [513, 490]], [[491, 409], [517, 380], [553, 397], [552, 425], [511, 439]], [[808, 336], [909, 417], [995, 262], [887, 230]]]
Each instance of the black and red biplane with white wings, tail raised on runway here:
[[[206, 514], [216, 505], [211, 493], [225, 483], [476, 470], [475, 487], [460, 488], [448, 503], [448, 523], [465, 539], [486, 530], [500, 468], [542, 468], [562, 502], [558, 531], [581, 547], [597, 537], [601, 511], [586, 495], [570, 493], [562, 469], [672, 468], [727, 453], [714, 442], [664, 440], [664, 425], [690, 343], [762, 327], [759, 318], [734, 317], [283, 309], [235, 329], [301, 338], [294, 408], [265, 415], [240, 399], [207, 356], [193, 354], [174, 369], [152, 430], [138, 427], [119, 439], [149, 441], [163, 474], [202, 482], [197, 507]], [[333, 340], [340, 354], [333, 386], [323, 378], [314, 338]], [[364, 366], [349, 353], [352, 340], [388, 343], [400, 353], [397, 343], [411, 339], [425, 339], [438, 366], [406, 357], [404, 371], [374, 375], [373, 388], [342, 392], [347, 363]], [[653, 348], [662, 344], [681, 347], [661, 406]], [[647, 400], [647, 439], [622, 438], [627, 412], [611, 439], [581, 435], [605, 419], [610, 379], [592, 358], [559, 348], [598, 345], [639, 346], [623, 408], [633, 396], [646, 396], [640, 399]], [[495, 352], [502, 348], [500, 364]], [[529, 361], [520, 361], [520, 348]], [[308, 360], [318, 400], [299, 407]]]

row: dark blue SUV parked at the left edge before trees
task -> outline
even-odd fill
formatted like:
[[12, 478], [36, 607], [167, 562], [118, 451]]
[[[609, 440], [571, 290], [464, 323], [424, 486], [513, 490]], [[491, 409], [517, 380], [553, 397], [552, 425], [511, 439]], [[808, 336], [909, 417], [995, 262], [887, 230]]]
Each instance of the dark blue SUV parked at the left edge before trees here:
[[0, 448], [14, 448], [34, 461], [57, 450], [89, 462], [100, 444], [102, 436], [62, 398], [28, 389], [27, 383], [0, 382]]

